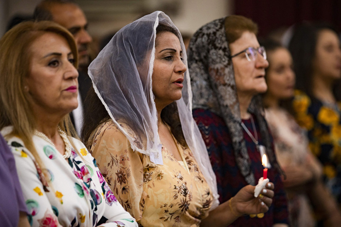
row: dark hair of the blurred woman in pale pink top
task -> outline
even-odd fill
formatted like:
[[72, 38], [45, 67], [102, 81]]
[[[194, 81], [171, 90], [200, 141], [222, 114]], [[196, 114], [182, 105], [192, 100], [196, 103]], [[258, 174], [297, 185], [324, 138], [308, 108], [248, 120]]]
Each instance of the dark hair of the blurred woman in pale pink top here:
[[[271, 54], [273, 54], [273, 52], [275, 52], [277, 49], [280, 49], [280, 48], [286, 49], [286, 48], [281, 43], [279, 43], [278, 41], [276, 41], [272, 38], [267, 38], [264, 40], [260, 39], [259, 43], [261, 46], [265, 47], [266, 55], [267, 55], [267, 61], [269, 62], [269, 67], [267, 67], [265, 69], [265, 81], [267, 82], [268, 71], [269, 71], [269, 68], [271, 67]], [[264, 97], [266, 95], [266, 93], [267, 92], [262, 94], [262, 97]], [[292, 101], [292, 98], [283, 99], [283, 100], [280, 100], [279, 105], [281, 107], [283, 107], [285, 110], [287, 110], [290, 114], [294, 114], [291, 101]], [[263, 102], [263, 103], [264, 103], [264, 107], [268, 108], [266, 103], [265, 102]]]

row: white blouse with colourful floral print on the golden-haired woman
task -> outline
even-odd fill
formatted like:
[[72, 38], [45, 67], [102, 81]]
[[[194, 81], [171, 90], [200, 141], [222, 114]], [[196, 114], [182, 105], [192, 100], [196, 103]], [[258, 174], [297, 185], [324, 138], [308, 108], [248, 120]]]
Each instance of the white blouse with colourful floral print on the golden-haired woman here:
[[[1, 131], [3, 135], [10, 132], [12, 127]], [[137, 226], [117, 203], [95, 159], [79, 140], [69, 137], [75, 146], [66, 161], [47, 141], [34, 135], [33, 143], [44, 165], [40, 169], [19, 137], [6, 139], [15, 157], [31, 226]]]

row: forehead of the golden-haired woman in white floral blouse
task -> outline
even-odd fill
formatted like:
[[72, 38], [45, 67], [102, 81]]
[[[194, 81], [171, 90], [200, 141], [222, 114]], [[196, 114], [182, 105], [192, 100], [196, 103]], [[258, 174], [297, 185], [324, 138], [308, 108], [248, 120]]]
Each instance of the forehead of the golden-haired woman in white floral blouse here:
[[38, 37], [30, 46], [33, 57], [43, 57], [48, 53], [70, 53], [70, 46], [67, 40], [52, 32], [47, 32]]

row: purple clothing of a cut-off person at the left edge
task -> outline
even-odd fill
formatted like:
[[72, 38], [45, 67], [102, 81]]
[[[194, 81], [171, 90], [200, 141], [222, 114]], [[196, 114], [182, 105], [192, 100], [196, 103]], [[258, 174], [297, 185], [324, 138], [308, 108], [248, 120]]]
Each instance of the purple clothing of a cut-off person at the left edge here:
[[0, 134], [0, 226], [17, 227], [19, 211], [27, 213], [13, 154]]

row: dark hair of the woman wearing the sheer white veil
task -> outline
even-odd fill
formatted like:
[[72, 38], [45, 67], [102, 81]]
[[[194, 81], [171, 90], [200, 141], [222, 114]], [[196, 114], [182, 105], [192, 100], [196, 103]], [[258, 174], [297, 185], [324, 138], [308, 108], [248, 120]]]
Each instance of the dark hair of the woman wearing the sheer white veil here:
[[[162, 32], [171, 32], [179, 38], [179, 34], [174, 28], [160, 23], [156, 28], [156, 35]], [[92, 132], [95, 131], [95, 129], [100, 124], [109, 120], [110, 116], [107, 110], [105, 109], [104, 105], [102, 104], [102, 102], [99, 100], [98, 96], [95, 94], [94, 88], [91, 88], [89, 90], [87, 97], [84, 101], [84, 106], [87, 107], [85, 108], [85, 111], [84, 111], [84, 122], [86, 122], [86, 124], [84, 124], [81, 137], [82, 137], [84, 144], [87, 146], [87, 148], [89, 148], [90, 147], [89, 142], [91, 142], [89, 141], [89, 139], [90, 139]], [[174, 137], [179, 141], [179, 143], [183, 146], [186, 146], [186, 140], [182, 132], [177, 105], [175, 102], [166, 106], [162, 110], [161, 119], [170, 126], [171, 132], [173, 133]], [[121, 119], [121, 120], [124, 120], [124, 119]]]

